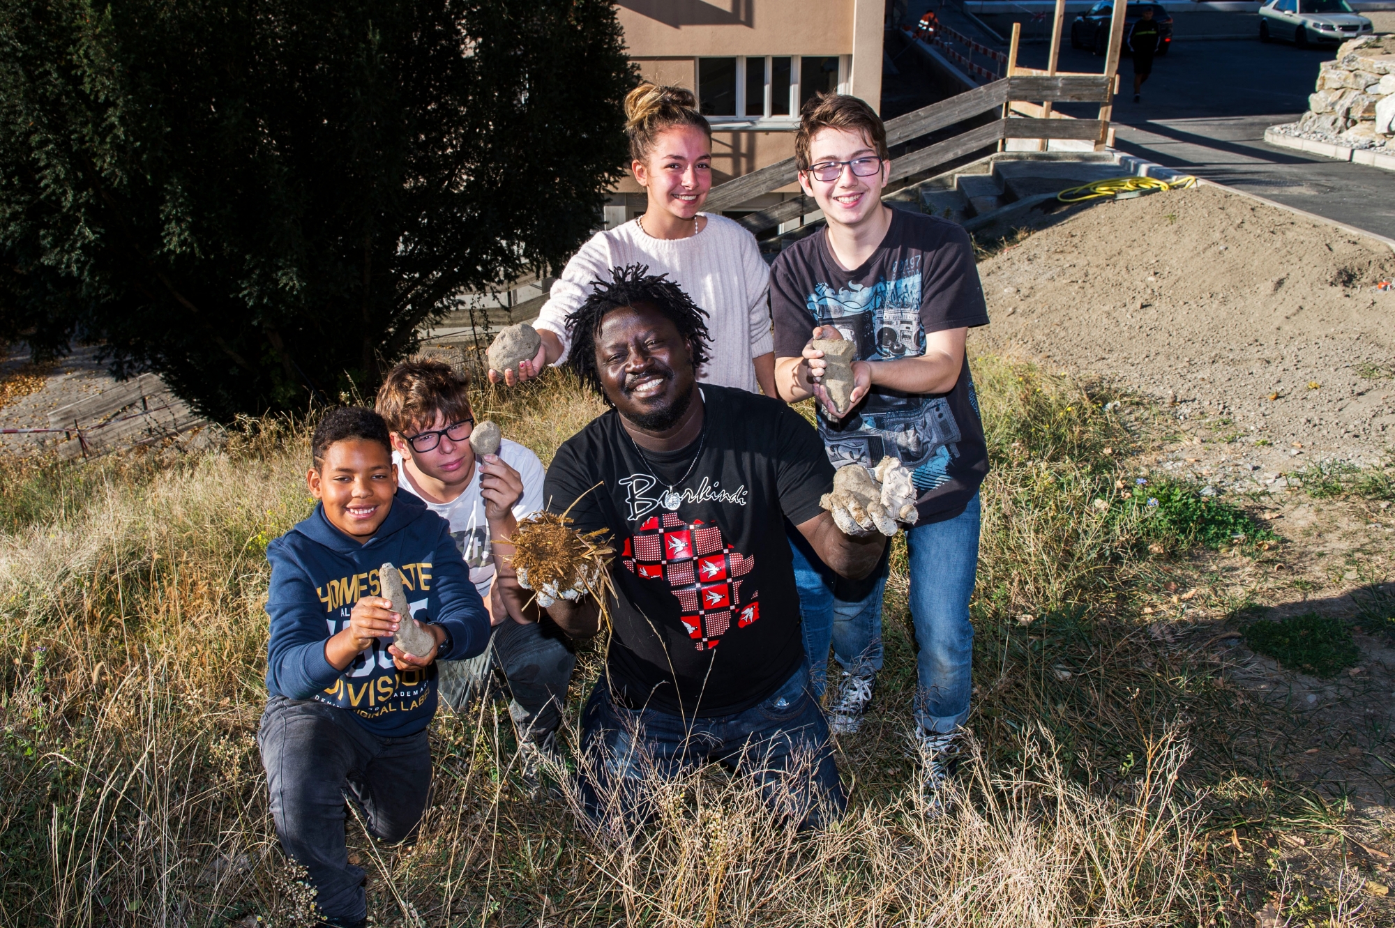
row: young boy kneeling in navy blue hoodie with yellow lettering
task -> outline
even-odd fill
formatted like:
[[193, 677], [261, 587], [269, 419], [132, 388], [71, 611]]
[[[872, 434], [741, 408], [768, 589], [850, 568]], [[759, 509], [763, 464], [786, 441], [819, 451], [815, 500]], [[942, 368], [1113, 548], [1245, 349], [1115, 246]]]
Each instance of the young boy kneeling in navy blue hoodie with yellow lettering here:
[[[381, 840], [413, 835], [431, 786], [434, 662], [484, 651], [490, 619], [451, 527], [398, 492], [382, 417], [333, 410], [311, 457], [315, 511], [266, 548], [269, 698], [257, 743], [282, 847], [310, 872], [326, 924], [350, 928], [365, 924], [367, 899], [345, 846], [346, 798]], [[385, 562], [402, 574], [412, 616], [379, 595]], [[435, 647], [402, 652], [392, 644], [402, 621]]]

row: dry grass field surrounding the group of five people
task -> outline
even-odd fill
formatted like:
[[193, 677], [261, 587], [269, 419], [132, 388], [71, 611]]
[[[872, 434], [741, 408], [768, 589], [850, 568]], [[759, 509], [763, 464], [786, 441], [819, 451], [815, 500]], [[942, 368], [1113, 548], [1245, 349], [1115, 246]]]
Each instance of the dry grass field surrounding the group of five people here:
[[[1201, 588], [1218, 549], [1265, 563], [1278, 535], [1138, 478], [1154, 426], [1130, 397], [990, 355], [974, 371], [993, 471], [975, 750], [950, 814], [928, 817], [908, 790], [903, 549], [877, 702], [838, 744], [843, 821], [791, 833], [739, 782], [699, 771], [651, 783], [656, 825], [593, 839], [565, 771], [551, 798], [525, 796], [505, 708], [477, 702], [432, 726], [417, 844], [352, 825], [374, 924], [1381, 920], [1385, 836], [1353, 850], [1349, 803], [1286, 769], [1264, 747], [1278, 709], [1226, 681], [1216, 630], [1243, 592], [1173, 592]], [[555, 372], [476, 404], [544, 463], [601, 411]], [[264, 419], [194, 456], [0, 463], [0, 925], [314, 924], [254, 741], [264, 552], [311, 509], [306, 458], [306, 422]], [[583, 648], [569, 718], [598, 654]], [[1290, 840], [1313, 863], [1292, 861]]]

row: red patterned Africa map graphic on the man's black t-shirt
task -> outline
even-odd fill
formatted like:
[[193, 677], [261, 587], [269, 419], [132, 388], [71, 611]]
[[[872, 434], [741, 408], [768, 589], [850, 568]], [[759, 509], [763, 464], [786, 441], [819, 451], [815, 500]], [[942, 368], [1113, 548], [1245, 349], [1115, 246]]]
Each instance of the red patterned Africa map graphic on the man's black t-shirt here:
[[732, 549], [716, 525], [702, 520], [689, 525], [674, 513], [653, 516], [625, 539], [621, 559], [638, 577], [668, 581], [682, 609], [679, 620], [699, 651], [716, 648], [732, 620], [745, 628], [760, 617], [759, 591], [742, 599], [739, 580], [756, 559]]

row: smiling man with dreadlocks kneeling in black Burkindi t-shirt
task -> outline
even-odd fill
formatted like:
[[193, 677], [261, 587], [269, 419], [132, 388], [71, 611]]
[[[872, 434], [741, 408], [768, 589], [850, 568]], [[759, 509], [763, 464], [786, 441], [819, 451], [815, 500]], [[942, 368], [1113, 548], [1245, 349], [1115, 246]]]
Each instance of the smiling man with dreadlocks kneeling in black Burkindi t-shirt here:
[[[833, 467], [798, 412], [698, 386], [706, 312], [647, 270], [615, 268], [568, 316], [571, 364], [612, 408], [558, 449], [543, 492], [617, 550], [582, 797], [597, 821], [643, 817], [656, 782], [720, 762], [776, 814], [823, 822], [845, 798], [809, 693], [784, 520], [848, 577], [870, 573], [886, 541], [850, 538], [820, 509]], [[548, 613], [573, 637], [598, 631], [593, 601]]]

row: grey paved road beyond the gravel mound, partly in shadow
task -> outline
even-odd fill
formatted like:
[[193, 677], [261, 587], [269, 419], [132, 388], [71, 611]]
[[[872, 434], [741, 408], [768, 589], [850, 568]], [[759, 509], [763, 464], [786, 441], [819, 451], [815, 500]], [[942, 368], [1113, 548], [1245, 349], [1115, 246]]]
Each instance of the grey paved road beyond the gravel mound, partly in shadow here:
[[[1243, 29], [1258, 28], [1257, 17], [1240, 18]], [[1225, 29], [1236, 31], [1233, 25]], [[1024, 43], [1020, 60], [1046, 67], [1046, 43]], [[1159, 164], [1395, 238], [1395, 171], [1264, 144], [1265, 127], [1292, 123], [1307, 109], [1318, 64], [1332, 56], [1331, 49], [1261, 45], [1258, 39], [1179, 39], [1155, 61], [1141, 103], [1133, 102], [1133, 63], [1124, 59], [1124, 92], [1113, 114], [1116, 144]], [[1059, 68], [1098, 74], [1103, 59], [1067, 45]], [[1071, 116], [1095, 113], [1088, 106], [1060, 109]]]

